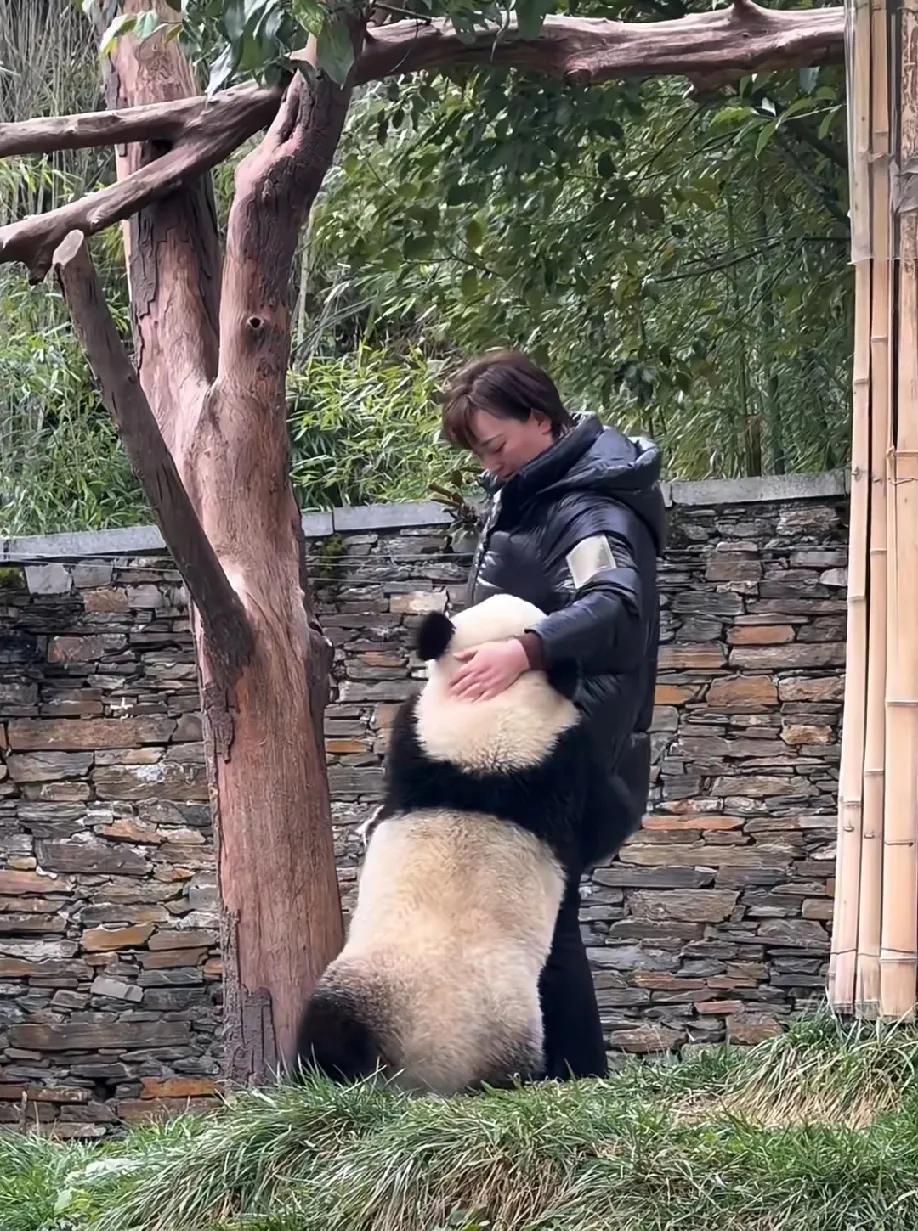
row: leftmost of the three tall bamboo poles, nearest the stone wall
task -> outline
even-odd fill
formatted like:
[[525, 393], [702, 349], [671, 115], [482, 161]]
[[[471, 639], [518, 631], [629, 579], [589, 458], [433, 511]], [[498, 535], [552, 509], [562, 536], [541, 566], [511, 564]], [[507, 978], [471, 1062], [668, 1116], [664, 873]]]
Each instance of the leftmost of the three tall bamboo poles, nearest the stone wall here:
[[848, 628], [838, 780], [836, 901], [828, 1000], [854, 1008], [864, 814], [864, 729], [868, 675], [868, 533], [870, 524], [870, 9], [848, 7], [849, 176], [854, 261], [854, 364], [852, 382]]

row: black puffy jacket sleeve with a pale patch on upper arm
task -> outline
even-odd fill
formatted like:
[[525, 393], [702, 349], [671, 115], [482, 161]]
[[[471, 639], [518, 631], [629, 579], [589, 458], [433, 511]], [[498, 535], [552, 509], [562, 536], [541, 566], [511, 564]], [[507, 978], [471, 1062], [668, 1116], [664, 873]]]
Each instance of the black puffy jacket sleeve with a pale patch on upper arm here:
[[644, 570], [655, 569], [656, 560], [639, 559], [647, 545], [636, 527], [629, 533], [629, 522], [631, 516], [598, 503], [559, 537], [546, 564], [573, 597], [532, 630], [539, 636], [538, 657], [545, 667], [572, 661], [587, 672], [626, 672], [641, 665], [650, 627], [647, 598], [655, 601], [641, 564]]

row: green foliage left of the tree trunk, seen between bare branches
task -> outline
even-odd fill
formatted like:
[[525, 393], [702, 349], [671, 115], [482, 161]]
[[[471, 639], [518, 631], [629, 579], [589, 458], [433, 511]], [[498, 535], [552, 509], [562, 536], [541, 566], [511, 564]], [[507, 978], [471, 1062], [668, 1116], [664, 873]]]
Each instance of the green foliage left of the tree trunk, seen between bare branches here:
[[[91, 111], [98, 64], [70, 0], [0, 0], [0, 114], [26, 118]], [[53, 209], [111, 175], [107, 150], [0, 161], [0, 224]], [[122, 327], [121, 235], [94, 241]], [[100, 405], [53, 279], [30, 287], [0, 266], [0, 534], [101, 528], [149, 519]]]

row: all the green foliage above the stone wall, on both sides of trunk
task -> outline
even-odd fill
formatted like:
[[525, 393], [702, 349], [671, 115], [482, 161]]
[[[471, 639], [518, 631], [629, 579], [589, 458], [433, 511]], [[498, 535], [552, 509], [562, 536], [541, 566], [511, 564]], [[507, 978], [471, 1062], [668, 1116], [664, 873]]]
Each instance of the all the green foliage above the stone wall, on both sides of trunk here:
[[[326, 70], [346, 71], [349, 0], [170, 2], [212, 90], [279, 79], [310, 33]], [[527, 34], [548, 7], [511, 5]], [[703, 7], [615, 0], [603, 16]], [[508, 11], [405, 0], [375, 17], [411, 10], [460, 31]], [[153, 15], [133, 14], [132, 34], [149, 36]], [[15, 69], [0, 70], [4, 116], [98, 106], [73, 0], [0, 0], [0, 64]], [[700, 100], [673, 80], [580, 89], [469, 68], [358, 91], [293, 287], [305, 507], [468, 487], [469, 467], [434, 441], [436, 394], [447, 366], [495, 345], [546, 363], [573, 407], [655, 435], [669, 474], [844, 464], [843, 95], [837, 69], [753, 75]], [[242, 153], [215, 172], [222, 222]], [[112, 174], [108, 150], [0, 161], [0, 224]], [[94, 241], [127, 336], [119, 244], [117, 228]], [[0, 533], [146, 519], [53, 284], [0, 270]]]

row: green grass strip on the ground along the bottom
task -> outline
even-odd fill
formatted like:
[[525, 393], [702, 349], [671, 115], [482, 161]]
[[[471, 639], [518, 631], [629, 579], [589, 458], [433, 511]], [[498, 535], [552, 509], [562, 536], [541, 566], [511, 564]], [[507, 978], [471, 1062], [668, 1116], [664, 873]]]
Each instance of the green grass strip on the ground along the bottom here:
[[105, 1146], [0, 1136], [2, 1231], [906, 1231], [918, 1032], [821, 1016], [604, 1082], [309, 1081]]

